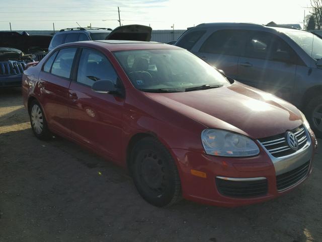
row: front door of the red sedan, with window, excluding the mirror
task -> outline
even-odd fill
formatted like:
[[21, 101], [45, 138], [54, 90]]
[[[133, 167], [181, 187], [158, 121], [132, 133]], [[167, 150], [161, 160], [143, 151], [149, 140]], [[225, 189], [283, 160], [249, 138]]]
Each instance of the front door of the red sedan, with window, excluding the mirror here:
[[101, 52], [83, 48], [77, 75], [69, 87], [71, 136], [75, 140], [117, 159], [121, 147], [124, 98], [92, 91], [98, 80], [119, 85], [118, 76]]

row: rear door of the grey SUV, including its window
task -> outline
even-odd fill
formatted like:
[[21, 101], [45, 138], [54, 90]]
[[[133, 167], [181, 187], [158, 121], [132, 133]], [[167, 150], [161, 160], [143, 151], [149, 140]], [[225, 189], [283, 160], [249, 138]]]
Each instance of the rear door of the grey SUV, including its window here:
[[198, 53], [195, 54], [235, 79], [238, 74], [241, 47], [245, 45], [245, 41], [245, 31], [218, 30], [206, 39]]

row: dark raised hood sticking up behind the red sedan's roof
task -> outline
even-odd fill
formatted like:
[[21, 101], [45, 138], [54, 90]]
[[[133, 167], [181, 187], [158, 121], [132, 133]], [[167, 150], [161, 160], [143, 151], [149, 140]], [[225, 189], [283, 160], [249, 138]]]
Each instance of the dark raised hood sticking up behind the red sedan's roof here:
[[106, 39], [150, 41], [152, 28], [145, 25], [124, 25], [114, 29]]

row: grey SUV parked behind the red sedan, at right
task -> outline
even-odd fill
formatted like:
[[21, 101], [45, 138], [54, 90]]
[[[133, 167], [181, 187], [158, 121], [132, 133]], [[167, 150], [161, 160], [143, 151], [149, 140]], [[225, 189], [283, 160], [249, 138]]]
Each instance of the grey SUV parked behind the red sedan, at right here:
[[295, 104], [322, 137], [322, 39], [318, 36], [285, 27], [211, 23], [189, 29], [175, 45], [237, 81]]

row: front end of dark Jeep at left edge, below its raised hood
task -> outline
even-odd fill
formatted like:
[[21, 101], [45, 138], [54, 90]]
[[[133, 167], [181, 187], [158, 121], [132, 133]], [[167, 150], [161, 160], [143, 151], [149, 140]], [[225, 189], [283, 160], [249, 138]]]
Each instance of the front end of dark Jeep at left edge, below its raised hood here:
[[21, 50], [0, 47], [0, 88], [21, 86], [22, 74], [33, 56]]

